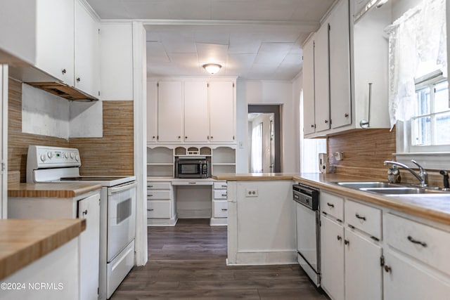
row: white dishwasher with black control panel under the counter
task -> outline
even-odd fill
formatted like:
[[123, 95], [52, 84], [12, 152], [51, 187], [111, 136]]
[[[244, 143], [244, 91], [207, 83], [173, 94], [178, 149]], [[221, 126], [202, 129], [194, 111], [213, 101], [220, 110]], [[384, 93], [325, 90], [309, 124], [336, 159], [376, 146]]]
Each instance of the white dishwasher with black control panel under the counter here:
[[321, 282], [319, 190], [293, 185], [297, 223], [297, 261], [314, 284]]

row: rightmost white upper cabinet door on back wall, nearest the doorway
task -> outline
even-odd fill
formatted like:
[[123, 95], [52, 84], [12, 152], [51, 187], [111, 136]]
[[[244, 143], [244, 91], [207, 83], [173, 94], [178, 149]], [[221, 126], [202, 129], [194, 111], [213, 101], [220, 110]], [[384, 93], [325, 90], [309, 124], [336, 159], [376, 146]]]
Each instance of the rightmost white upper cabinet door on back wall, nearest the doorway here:
[[234, 84], [232, 81], [210, 82], [210, 141], [234, 142]]

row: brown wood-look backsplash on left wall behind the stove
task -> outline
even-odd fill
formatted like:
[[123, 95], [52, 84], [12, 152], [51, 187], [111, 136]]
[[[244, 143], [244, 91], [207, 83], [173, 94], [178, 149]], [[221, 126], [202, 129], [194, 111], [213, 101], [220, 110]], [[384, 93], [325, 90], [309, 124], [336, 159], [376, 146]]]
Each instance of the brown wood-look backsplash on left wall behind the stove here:
[[22, 84], [9, 79], [8, 171], [20, 171], [25, 182], [28, 145], [79, 148], [81, 174], [132, 175], [133, 101], [103, 101], [102, 138], [64, 138], [22, 132]]

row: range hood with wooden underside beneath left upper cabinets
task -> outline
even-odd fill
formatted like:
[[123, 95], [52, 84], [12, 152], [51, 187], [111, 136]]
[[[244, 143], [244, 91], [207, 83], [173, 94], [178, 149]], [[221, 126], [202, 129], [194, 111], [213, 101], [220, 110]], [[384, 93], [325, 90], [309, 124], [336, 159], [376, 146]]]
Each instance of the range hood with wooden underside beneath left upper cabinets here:
[[34, 86], [37, 89], [53, 93], [53, 95], [60, 96], [61, 98], [82, 102], [98, 100], [98, 98], [84, 93], [74, 86], [69, 86], [32, 65], [11, 65], [8, 70], [9, 77], [22, 81], [25, 84], [30, 84], [30, 86]]

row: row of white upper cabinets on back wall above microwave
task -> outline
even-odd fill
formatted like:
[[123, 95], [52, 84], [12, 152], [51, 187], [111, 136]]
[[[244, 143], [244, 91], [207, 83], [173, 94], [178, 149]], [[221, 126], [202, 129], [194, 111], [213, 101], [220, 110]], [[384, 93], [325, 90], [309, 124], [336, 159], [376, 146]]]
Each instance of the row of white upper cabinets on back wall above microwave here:
[[147, 143], [236, 143], [231, 79], [148, 81]]

